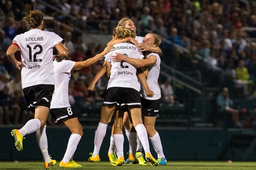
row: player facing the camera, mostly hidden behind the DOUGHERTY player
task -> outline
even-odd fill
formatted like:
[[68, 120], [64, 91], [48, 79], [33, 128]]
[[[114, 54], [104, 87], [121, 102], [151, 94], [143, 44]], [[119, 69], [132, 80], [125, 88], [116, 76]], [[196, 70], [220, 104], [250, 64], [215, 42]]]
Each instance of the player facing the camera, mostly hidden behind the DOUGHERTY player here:
[[[136, 33], [136, 26], [130, 18], [122, 18], [118, 22], [117, 26], [130, 28], [131, 30], [133, 30]], [[147, 46], [147, 44], [142, 43], [143, 37], [141, 37], [141, 36], [135, 36], [135, 39], [132, 38], [131, 36], [125, 37], [123, 39], [112, 39], [107, 45], [115, 45], [116, 43], [124, 43], [126, 41], [131, 41], [132, 43], [134, 43], [134, 45], [136, 47], [138, 47], [141, 50], [141, 52], [151, 51], [151, 52], [155, 52], [157, 54], [162, 53], [161, 49], [158, 46], [149, 47], [149, 46]], [[106, 73], [106, 65], [104, 65], [104, 64], [101, 67], [101, 69], [99, 70], [99, 72], [96, 74], [96, 76], [94, 77], [93, 81], [91, 82], [91, 85], [89, 85], [88, 90], [93, 91], [97, 81], [100, 79], [100, 77], [102, 77]], [[145, 75], [145, 76], [147, 76], [147, 75]], [[150, 93], [147, 93], [147, 95], [148, 95], [148, 97], [153, 96]], [[138, 163], [139, 165], [147, 165], [146, 161], [144, 160], [143, 154], [141, 152], [142, 146], [141, 146], [140, 140], [137, 139], [136, 131], [134, 128], [132, 128], [132, 124], [129, 121], [128, 112], [125, 112], [123, 121], [124, 121], [124, 127], [125, 127], [125, 134], [129, 140], [129, 154], [128, 154], [128, 159], [126, 160], [126, 163], [133, 162], [134, 164]], [[130, 128], [131, 128], [131, 130], [130, 130]], [[112, 128], [112, 131], [113, 131], [113, 128]], [[114, 160], [116, 159], [114, 146], [115, 146], [115, 141], [114, 141], [114, 138], [111, 136], [109, 152], [108, 152], [110, 162], [113, 162], [113, 159]], [[136, 153], [134, 153], [134, 151], [133, 151], [134, 147], [137, 147], [137, 149], [135, 148], [135, 150], [137, 150]], [[136, 155], [137, 159], [134, 157], [134, 154]]]

